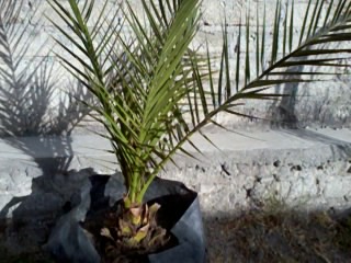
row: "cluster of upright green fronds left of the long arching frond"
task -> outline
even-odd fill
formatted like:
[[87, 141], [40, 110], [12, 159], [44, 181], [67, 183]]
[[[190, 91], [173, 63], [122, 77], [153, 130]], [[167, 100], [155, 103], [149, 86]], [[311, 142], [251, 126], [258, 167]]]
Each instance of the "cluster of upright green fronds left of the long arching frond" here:
[[[61, 44], [79, 66], [61, 59], [98, 99], [98, 105], [90, 105], [98, 113], [94, 117], [109, 132], [132, 202], [140, 202], [143, 196], [137, 195], [154, 176], [165, 151], [172, 148], [165, 136], [177, 127], [173, 115], [181, 115], [178, 104], [189, 93], [184, 83], [192, 80], [192, 71], [184, 54], [197, 28], [199, 1], [159, 1], [159, 5], [141, 1], [147, 26], [126, 3], [121, 12], [132, 28], [132, 41], [120, 34], [113, 20], [107, 25], [97, 23], [90, 31], [93, 1], [86, 1], [83, 8], [75, 0], [68, 2], [69, 9], [58, 0], [52, 7], [70, 33], [54, 24], [81, 55]], [[105, 27], [114, 30], [94, 39], [95, 32]], [[102, 62], [103, 55], [107, 62]]]

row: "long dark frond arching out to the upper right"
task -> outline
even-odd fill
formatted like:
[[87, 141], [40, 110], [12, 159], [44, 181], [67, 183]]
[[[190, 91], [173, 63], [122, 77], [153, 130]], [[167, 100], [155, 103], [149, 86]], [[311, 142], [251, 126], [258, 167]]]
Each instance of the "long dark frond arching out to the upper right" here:
[[[272, 50], [270, 54], [264, 54], [264, 46], [267, 45], [267, 35], [265, 35], [265, 8], [264, 8], [264, 14], [263, 14], [263, 31], [261, 35], [261, 43], [257, 42], [257, 59], [260, 58], [261, 60], [261, 67], [260, 67], [260, 72], [258, 72], [258, 77], [253, 80], [249, 80], [249, 75], [248, 72], [245, 75], [245, 79], [240, 80], [239, 79], [239, 65], [246, 65], [246, 69], [248, 69], [248, 55], [245, 57], [245, 60], [240, 60], [240, 43], [241, 43], [241, 31], [239, 27], [239, 37], [238, 37], [238, 43], [237, 43], [237, 67], [236, 67], [236, 72], [234, 73], [236, 77], [236, 85], [239, 87], [239, 83], [244, 83], [241, 88], [237, 88], [237, 91], [235, 94], [229, 95], [227, 98], [222, 99], [223, 95], [225, 94], [224, 90], [226, 87], [223, 85], [222, 83], [222, 76], [228, 70], [228, 68], [225, 68], [225, 61], [228, 59], [227, 53], [224, 50], [222, 60], [220, 60], [220, 69], [218, 72], [218, 94], [214, 94], [213, 92], [210, 92], [211, 100], [213, 102], [212, 105], [204, 105], [205, 107], [213, 106], [213, 111], [208, 112], [205, 114], [202, 118], [192, 118], [193, 127], [189, 133], [184, 135], [181, 140], [178, 141], [178, 145], [174, 146], [173, 150], [169, 152], [169, 156], [172, 156], [176, 153], [176, 151], [179, 148], [182, 148], [182, 146], [190, 140], [191, 136], [195, 134], [196, 132], [200, 132], [204, 126], [206, 126], [208, 123], [214, 122], [214, 116], [219, 113], [219, 112], [227, 112], [237, 116], [245, 116], [245, 117], [252, 117], [248, 116], [246, 114], [242, 114], [235, 110], [235, 107], [238, 105], [236, 102], [237, 101], [248, 101], [248, 100], [274, 100], [275, 98], [281, 96], [280, 94], [274, 94], [274, 93], [267, 93], [268, 89], [270, 87], [274, 87], [278, 84], [285, 84], [285, 83], [291, 83], [291, 82], [312, 82], [312, 81], [317, 81], [317, 77], [325, 77], [329, 76], [330, 73], [327, 71], [324, 71], [324, 69], [330, 69], [333, 67], [349, 67], [346, 65], [340, 65], [338, 61], [340, 58], [348, 58], [343, 56], [342, 54], [349, 53], [347, 48], [338, 48], [338, 49], [331, 49], [331, 48], [326, 48], [325, 46], [320, 46], [318, 44], [328, 44], [328, 43], [335, 43], [335, 42], [340, 42], [344, 41], [348, 42], [351, 39], [351, 35], [349, 32], [344, 31], [350, 31], [350, 24], [349, 22], [351, 21], [351, 14], [350, 14], [350, 5], [346, 5], [346, 1], [341, 1], [337, 9], [335, 9], [333, 15], [332, 14], [332, 2], [329, 3], [327, 7], [327, 14], [324, 20], [321, 18], [321, 8], [324, 5], [324, 1], [318, 1], [315, 4], [314, 11], [310, 12], [310, 9], [313, 7], [312, 1], [308, 3], [308, 8], [305, 12], [305, 19], [301, 27], [301, 36], [299, 36], [299, 42], [297, 46], [293, 46], [293, 26], [294, 26], [294, 1], [292, 1], [291, 4], [291, 12], [290, 12], [290, 24], [288, 27], [283, 28], [283, 44], [282, 48], [284, 49], [284, 46], [286, 43], [288, 43], [288, 52], [287, 48], [285, 47], [285, 53], [283, 55], [280, 55], [280, 15], [281, 15], [281, 2], [278, 1], [276, 8], [275, 8], [275, 19], [274, 19], [274, 26], [273, 26], [273, 35], [271, 41], [272, 45]], [[324, 5], [324, 8], [326, 8]], [[320, 25], [320, 21], [325, 21], [324, 25]], [[285, 16], [285, 23], [287, 23], [288, 16], [286, 13]], [[247, 24], [247, 26], [250, 26]], [[287, 26], [287, 25], [286, 25]], [[258, 28], [258, 27], [257, 27]], [[307, 28], [307, 30], [306, 30]], [[286, 32], [284, 34], [284, 31]], [[247, 28], [247, 34], [249, 30]], [[288, 32], [288, 35], [287, 35]], [[227, 43], [227, 34], [224, 34], [224, 48], [228, 48], [226, 43]], [[246, 45], [247, 47], [249, 46], [249, 37], [246, 37]], [[336, 58], [330, 58], [330, 55], [333, 54], [339, 54], [341, 57], [336, 57]], [[270, 56], [271, 58], [271, 64], [270, 66], [264, 69], [263, 61], [267, 60], [267, 58]], [[316, 58], [318, 57], [318, 58]], [[208, 64], [211, 64], [211, 60], [208, 59]], [[296, 67], [296, 66], [302, 66], [302, 67]], [[314, 66], [317, 67], [318, 70], [314, 72], [308, 72], [308, 71], [303, 71], [304, 66]], [[226, 65], [226, 67], [229, 67], [229, 65]], [[211, 67], [210, 67], [211, 68]], [[257, 66], [257, 69], [259, 67]], [[337, 73], [335, 73], [337, 75]], [[212, 75], [213, 76], [213, 75]], [[303, 79], [303, 78], [285, 78], [288, 76], [313, 76], [314, 79]], [[199, 75], [199, 71], [194, 72], [194, 77], [196, 79], [197, 83], [201, 83], [202, 81], [205, 81], [202, 76]], [[215, 77], [212, 77], [215, 78]], [[210, 80], [211, 83], [213, 83], [213, 79]], [[197, 84], [197, 89], [203, 89], [205, 87], [204, 83]], [[211, 87], [211, 90], [214, 90], [214, 88]], [[199, 91], [197, 91], [199, 92]], [[202, 91], [204, 93], [204, 91]], [[208, 94], [208, 93], [207, 93]], [[228, 92], [227, 92], [228, 94]], [[215, 100], [215, 95], [220, 95], [220, 99]], [[196, 100], [196, 98], [194, 98]], [[200, 100], [200, 102], [203, 100]], [[207, 100], [208, 101], [208, 100]], [[216, 103], [214, 103], [216, 102]], [[219, 104], [218, 104], [219, 103]], [[195, 101], [189, 102], [190, 105], [197, 105]], [[197, 108], [201, 106], [197, 105]], [[196, 108], [192, 108], [194, 112], [194, 115], [197, 115]], [[160, 165], [163, 165], [167, 162], [167, 158], [165, 158], [165, 161], [160, 163]], [[157, 170], [156, 170], [157, 172]]]

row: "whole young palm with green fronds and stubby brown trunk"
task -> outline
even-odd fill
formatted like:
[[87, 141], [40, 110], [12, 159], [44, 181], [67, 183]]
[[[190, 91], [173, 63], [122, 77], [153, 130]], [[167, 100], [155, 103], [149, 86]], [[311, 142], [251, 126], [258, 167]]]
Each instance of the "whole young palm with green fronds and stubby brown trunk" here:
[[[95, 96], [95, 103], [89, 105], [95, 113], [92, 117], [105, 127], [107, 135], [101, 136], [110, 139], [125, 180], [124, 214], [117, 225], [121, 239], [129, 247], [152, 240], [150, 235], [155, 231], [150, 231], [150, 226], [155, 225], [158, 206], [147, 207], [144, 195], [165, 165], [173, 162], [176, 152], [193, 157], [185, 142], [200, 151], [191, 141], [193, 134], [200, 133], [211, 141], [202, 128], [207, 124], [224, 128], [214, 118], [218, 113], [247, 116], [237, 110], [246, 100], [276, 99], [280, 94], [270, 93], [270, 88], [312, 81], [305, 76], [325, 78], [328, 76], [325, 69], [340, 67], [337, 61], [351, 52], [325, 46], [350, 39], [348, 1], [335, 4], [310, 0], [296, 38], [294, 2], [282, 15], [282, 3], [278, 0], [271, 39], [265, 32], [265, 12], [262, 21], [257, 16], [257, 24], [262, 24], [263, 30], [257, 26], [254, 32], [256, 50], [249, 49], [252, 32], [247, 19], [246, 37], [239, 32], [235, 73], [229, 67], [226, 27], [219, 70], [213, 70], [208, 49], [200, 55], [189, 48], [199, 30], [200, 0], [140, 0], [144, 19], [128, 1], [110, 13], [109, 1], [102, 5], [99, 1], [99, 12], [94, 0], [49, 3], [64, 25], [52, 23], [75, 49], [57, 42], [75, 62], [66, 55], [58, 56]], [[327, 12], [321, 14], [321, 10]], [[268, 45], [272, 46], [270, 53]], [[251, 52], [256, 54], [252, 59]], [[252, 61], [254, 67], [250, 65]], [[303, 71], [304, 66], [318, 70]], [[109, 229], [103, 229], [102, 235], [111, 236]]]

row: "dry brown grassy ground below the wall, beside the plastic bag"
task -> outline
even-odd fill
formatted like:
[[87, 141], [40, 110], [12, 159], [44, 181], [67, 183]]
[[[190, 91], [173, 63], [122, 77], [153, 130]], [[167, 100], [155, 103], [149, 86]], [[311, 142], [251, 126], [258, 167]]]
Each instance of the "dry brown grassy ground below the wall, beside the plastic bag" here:
[[[217, 216], [204, 216], [208, 263], [351, 262], [351, 209], [302, 213], [278, 205]], [[0, 263], [53, 262], [39, 244], [22, 254], [0, 252]]]

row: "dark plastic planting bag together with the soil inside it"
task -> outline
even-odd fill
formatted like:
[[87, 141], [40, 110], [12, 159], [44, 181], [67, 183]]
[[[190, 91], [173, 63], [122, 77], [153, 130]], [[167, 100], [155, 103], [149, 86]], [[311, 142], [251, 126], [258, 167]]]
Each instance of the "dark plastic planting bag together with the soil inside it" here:
[[[147, 208], [141, 208], [141, 215], [148, 216], [141, 216], [140, 226], [133, 226], [137, 233], [149, 225], [147, 235], [139, 242], [125, 245], [131, 237], [135, 239], [135, 235], [121, 235], [121, 226], [131, 224], [131, 211], [124, 209], [123, 199], [109, 205], [125, 193], [122, 176], [93, 175], [90, 181], [91, 188], [81, 191], [81, 203], [57, 221], [45, 245], [58, 262], [205, 262], [196, 193], [179, 182], [156, 179], [145, 195]], [[160, 207], [152, 214], [154, 204]]]

